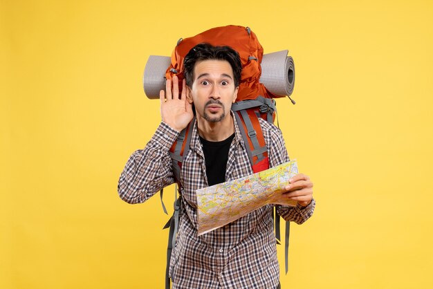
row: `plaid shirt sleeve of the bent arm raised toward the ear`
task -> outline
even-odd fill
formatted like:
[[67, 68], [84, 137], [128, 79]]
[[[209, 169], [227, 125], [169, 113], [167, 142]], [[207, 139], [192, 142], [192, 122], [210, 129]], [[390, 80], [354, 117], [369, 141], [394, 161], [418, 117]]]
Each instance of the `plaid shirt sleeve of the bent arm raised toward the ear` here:
[[127, 203], [143, 203], [174, 183], [169, 149], [178, 131], [161, 122], [145, 149], [132, 153], [120, 174], [118, 194]]

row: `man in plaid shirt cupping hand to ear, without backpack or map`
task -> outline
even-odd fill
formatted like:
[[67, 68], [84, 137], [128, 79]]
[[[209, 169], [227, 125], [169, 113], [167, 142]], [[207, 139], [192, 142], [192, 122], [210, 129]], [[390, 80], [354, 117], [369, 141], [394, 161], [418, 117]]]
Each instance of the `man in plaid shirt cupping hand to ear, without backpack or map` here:
[[[190, 151], [181, 170], [183, 214], [169, 268], [172, 288], [277, 288], [273, 205], [201, 236], [196, 230], [196, 189], [252, 174], [239, 124], [230, 111], [241, 79], [239, 55], [227, 46], [199, 44], [185, 57], [184, 67], [181, 97], [176, 76], [160, 91], [162, 122], [145, 149], [129, 158], [119, 180], [120, 198], [142, 203], [174, 183], [169, 149], [193, 119], [194, 107]], [[281, 131], [259, 120], [270, 167], [287, 162]], [[288, 200], [296, 200], [297, 206], [285, 206]], [[277, 203], [278, 214], [287, 221], [306, 221], [315, 206], [308, 176], [293, 177]]]

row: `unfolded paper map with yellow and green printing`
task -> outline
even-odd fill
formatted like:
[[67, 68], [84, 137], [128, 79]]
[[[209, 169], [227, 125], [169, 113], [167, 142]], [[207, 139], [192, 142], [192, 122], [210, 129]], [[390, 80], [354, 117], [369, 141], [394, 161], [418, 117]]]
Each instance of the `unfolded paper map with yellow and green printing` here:
[[[297, 162], [292, 160], [257, 174], [197, 189], [199, 236], [227, 225], [259, 207], [277, 203], [277, 194], [284, 191], [288, 180], [297, 173]], [[280, 203], [291, 206], [296, 204], [297, 201], [290, 199], [287, 203]]]

